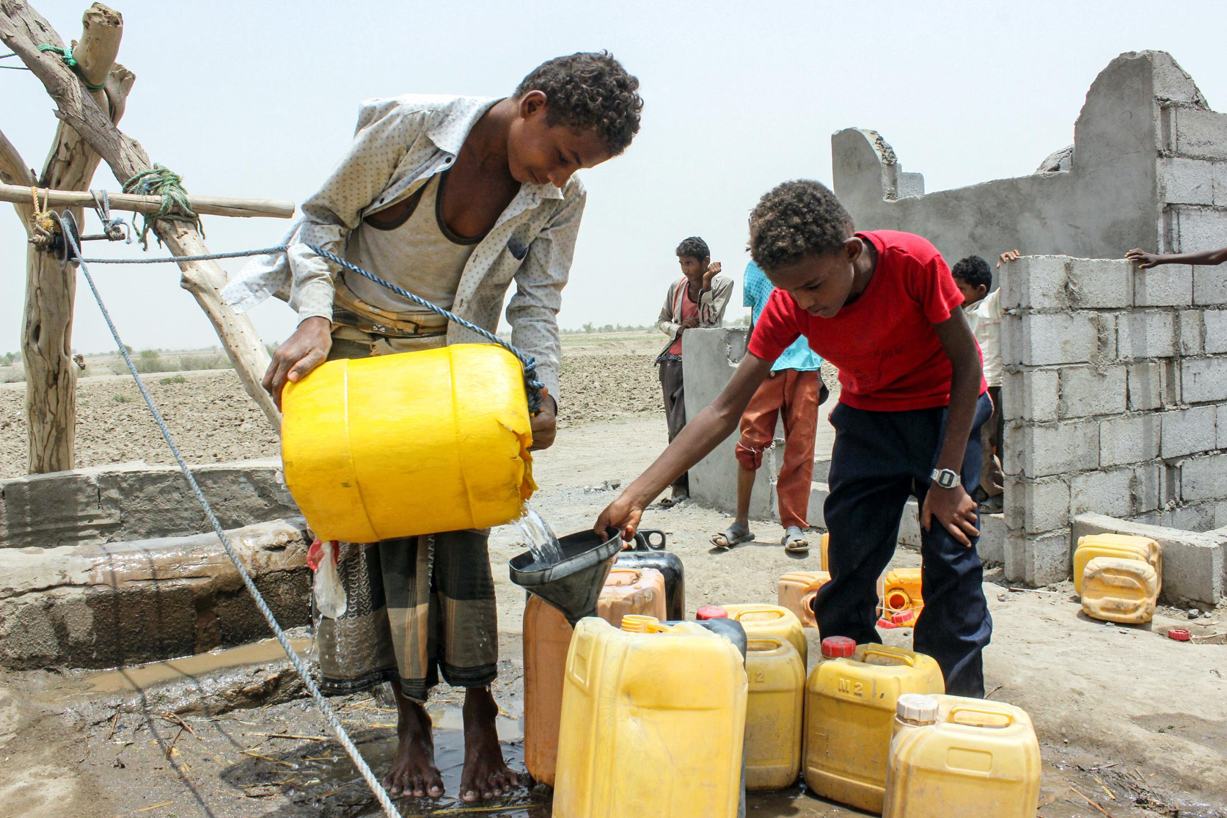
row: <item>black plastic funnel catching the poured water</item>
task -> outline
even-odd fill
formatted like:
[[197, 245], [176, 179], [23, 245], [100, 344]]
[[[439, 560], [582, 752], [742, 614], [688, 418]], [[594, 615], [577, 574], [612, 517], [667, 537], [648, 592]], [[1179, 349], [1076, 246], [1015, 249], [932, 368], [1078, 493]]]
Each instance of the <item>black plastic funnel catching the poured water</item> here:
[[562, 547], [558, 563], [540, 563], [531, 551], [512, 558], [512, 581], [558, 608], [574, 625], [584, 617], [596, 616], [596, 598], [622, 551], [622, 537], [615, 533], [602, 541], [591, 531], [580, 531], [562, 537], [558, 545]]

